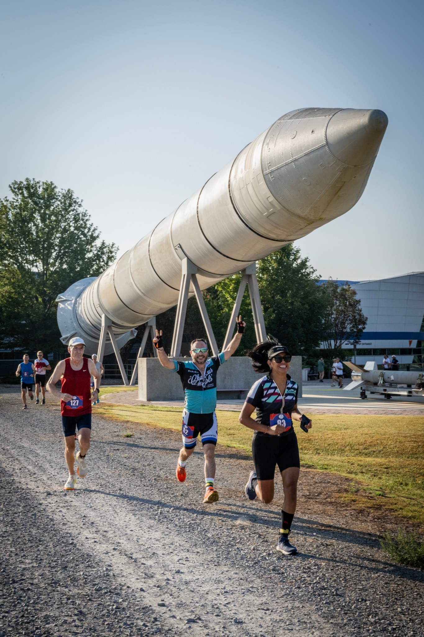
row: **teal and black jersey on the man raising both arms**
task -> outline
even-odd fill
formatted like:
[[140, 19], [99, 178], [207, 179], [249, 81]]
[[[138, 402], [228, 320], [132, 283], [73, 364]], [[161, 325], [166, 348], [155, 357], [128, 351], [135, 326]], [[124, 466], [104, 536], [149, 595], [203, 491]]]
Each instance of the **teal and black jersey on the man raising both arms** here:
[[216, 373], [225, 362], [224, 352], [207, 359], [205, 372], [200, 372], [193, 361], [174, 361], [175, 371], [181, 378], [186, 402], [184, 408], [190, 413], [213, 413], [216, 407]]

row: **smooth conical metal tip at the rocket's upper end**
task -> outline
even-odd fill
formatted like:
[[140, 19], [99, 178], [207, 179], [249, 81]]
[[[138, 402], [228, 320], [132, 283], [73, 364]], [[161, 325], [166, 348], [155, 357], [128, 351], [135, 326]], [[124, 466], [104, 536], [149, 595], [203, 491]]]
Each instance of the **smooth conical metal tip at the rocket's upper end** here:
[[379, 110], [346, 108], [335, 113], [327, 125], [327, 145], [348, 166], [374, 161], [388, 124]]

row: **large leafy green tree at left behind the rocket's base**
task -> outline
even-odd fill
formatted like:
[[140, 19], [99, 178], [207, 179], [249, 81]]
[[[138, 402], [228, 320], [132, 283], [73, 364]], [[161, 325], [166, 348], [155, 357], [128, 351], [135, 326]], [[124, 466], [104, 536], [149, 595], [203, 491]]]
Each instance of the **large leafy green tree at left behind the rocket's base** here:
[[72, 190], [25, 179], [10, 191], [0, 199], [0, 347], [57, 350], [57, 295], [98, 276], [117, 247], [99, 240]]

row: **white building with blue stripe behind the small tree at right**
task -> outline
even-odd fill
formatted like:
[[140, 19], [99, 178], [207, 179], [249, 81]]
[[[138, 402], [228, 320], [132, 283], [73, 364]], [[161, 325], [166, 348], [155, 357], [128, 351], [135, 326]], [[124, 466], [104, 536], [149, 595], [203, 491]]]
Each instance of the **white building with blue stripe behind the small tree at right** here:
[[[357, 345], [356, 362], [381, 364], [384, 354], [388, 354], [389, 359], [395, 354], [402, 364], [422, 364], [424, 272], [352, 282], [351, 285], [368, 318], [362, 340]], [[353, 349], [353, 346], [343, 345], [343, 348]]]

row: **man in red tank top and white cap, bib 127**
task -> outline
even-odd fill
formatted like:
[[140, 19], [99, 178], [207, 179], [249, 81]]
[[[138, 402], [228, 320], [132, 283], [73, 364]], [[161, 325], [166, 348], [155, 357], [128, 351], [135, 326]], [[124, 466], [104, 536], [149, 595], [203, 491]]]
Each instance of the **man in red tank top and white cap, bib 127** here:
[[[87, 467], [85, 454], [90, 447], [92, 429], [92, 402], [99, 396], [100, 374], [91, 359], [84, 358], [85, 343], [82, 338], [71, 338], [68, 352], [70, 357], [58, 362], [55, 371], [50, 376], [46, 389], [60, 398], [60, 413], [62, 414], [62, 429], [65, 437], [65, 460], [69, 469], [69, 476], [64, 489], [72, 491], [75, 488], [76, 475], [74, 470], [75, 458], [75, 429], [78, 429], [79, 451], [78, 475], [85, 478]], [[90, 378], [94, 378], [94, 389], [91, 391]], [[56, 383], [62, 379], [61, 389]]]

